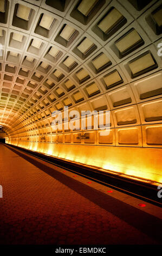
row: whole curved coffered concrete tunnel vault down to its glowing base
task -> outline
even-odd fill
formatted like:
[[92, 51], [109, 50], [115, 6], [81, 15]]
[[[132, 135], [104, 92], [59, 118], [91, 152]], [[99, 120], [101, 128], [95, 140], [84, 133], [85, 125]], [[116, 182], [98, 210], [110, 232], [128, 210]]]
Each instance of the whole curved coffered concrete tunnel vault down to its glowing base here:
[[[28, 2], [8, 0], [0, 20], [7, 142], [161, 182], [161, 1]], [[111, 111], [109, 135], [55, 133], [64, 106]]]

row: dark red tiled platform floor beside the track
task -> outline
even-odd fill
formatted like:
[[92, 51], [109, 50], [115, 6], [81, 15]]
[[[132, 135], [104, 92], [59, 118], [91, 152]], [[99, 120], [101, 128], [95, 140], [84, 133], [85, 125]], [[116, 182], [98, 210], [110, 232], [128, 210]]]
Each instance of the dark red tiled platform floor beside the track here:
[[158, 218], [42, 162], [0, 144], [1, 244], [160, 243]]

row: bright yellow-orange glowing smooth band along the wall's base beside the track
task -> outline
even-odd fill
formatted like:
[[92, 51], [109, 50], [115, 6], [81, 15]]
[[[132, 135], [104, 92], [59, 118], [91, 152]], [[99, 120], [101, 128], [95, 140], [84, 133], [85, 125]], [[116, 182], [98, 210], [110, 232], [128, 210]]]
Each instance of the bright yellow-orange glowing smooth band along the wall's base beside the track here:
[[17, 141], [13, 141], [11, 144], [40, 153], [61, 157], [62, 159], [89, 164], [137, 178], [162, 183], [162, 149]]

